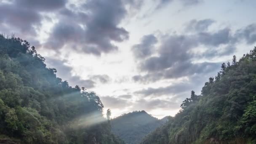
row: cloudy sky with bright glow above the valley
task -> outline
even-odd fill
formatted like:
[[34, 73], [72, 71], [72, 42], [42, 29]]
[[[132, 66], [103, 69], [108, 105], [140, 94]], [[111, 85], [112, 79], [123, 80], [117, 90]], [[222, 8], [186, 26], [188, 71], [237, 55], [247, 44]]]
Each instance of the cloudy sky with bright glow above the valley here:
[[28, 40], [112, 117], [174, 116], [256, 44], [255, 0], [0, 0], [0, 32]]

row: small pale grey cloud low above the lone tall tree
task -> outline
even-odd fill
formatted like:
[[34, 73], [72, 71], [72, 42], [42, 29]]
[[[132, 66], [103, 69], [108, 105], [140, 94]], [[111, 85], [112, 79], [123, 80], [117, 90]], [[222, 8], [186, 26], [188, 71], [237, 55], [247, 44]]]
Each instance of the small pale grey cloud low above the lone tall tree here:
[[113, 96], [101, 96], [101, 101], [104, 107], [110, 109], [120, 109], [129, 106], [131, 103], [125, 99], [116, 98]]

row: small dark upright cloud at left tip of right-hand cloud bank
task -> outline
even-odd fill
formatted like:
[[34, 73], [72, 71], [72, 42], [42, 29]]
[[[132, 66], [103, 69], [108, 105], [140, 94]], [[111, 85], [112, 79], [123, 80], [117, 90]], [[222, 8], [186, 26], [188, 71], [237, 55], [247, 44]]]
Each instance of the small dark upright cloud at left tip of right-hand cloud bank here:
[[133, 45], [132, 51], [136, 58], [142, 59], [152, 54], [157, 38], [154, 35], [145, 35], [141, 43]]

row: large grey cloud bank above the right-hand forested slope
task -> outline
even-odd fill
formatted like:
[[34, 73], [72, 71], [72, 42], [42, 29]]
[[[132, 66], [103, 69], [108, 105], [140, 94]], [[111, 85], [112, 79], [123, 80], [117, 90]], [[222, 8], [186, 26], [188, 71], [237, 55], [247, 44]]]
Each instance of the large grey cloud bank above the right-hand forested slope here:
[[[140, 83], [149, 83], [163, 79], [191, 77], [195, 74], [205, 75], [219, 69], [219, 63], [195, 62], [195, 60], [232, 55], [236, 51], [235, 45], [241, 40], [250, 44], [256, 42], [255, 24], [238, 29], [235, 33], [232, 33], [228, 27], [208, 31], [208, 27], [213, 22], [214, 20], [211, 19], [192, 20], [185, 28], [190, 27], [192, 33], [171, 33], [158, 37], [160, 46], [156, 48], [157, 53], [139, 61], [138, 69], [144, 75], [134, 75], [132, 79]], [[147, 46], [150, 49], [151, 45]], [[195, 52], [194, 50], [199, 46], [204, 47], [205, 50]]]

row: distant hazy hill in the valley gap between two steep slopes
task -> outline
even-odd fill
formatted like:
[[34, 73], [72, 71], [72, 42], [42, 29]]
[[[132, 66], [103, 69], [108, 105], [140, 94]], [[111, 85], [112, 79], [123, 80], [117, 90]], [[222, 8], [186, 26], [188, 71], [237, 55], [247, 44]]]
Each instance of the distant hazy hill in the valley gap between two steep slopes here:
[[111, 120], [112, 131], [125, 141], [126, 144], [139, 144], [155, 128], [167, 120], [158, 120], [145, 111], [135, 111]]

